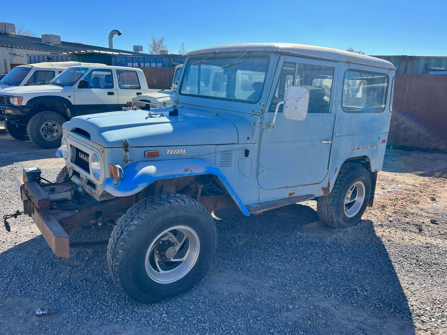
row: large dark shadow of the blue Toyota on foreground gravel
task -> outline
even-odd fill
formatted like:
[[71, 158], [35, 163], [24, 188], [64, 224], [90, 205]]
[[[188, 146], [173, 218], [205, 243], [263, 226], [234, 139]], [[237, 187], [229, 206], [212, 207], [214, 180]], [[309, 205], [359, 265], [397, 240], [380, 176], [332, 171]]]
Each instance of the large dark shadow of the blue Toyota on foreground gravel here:
[[[335, 230], [299, 204], [259, 216], [236, 209], [214, 215], [218, 247], [205, 278], [150, 305], [117, 289], [105, 249], [72, 250], [69, 260], [58, 259], [39, 235], [4, 251], [0, 327], [11, 334], [414, 334], [408, 302], [371, 221]], [[107, 228], [81, 229], [72, 239], [104, 233]], [[39, 307], [59, 313], [37, 318]]]

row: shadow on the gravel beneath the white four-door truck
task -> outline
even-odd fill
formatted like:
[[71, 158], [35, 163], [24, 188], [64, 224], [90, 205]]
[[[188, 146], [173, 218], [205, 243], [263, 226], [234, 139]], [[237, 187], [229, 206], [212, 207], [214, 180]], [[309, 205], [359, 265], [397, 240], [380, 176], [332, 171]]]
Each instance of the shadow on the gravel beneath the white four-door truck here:
[[8, 134], [0, 134], [0, 167], [33, 159], [54, 158], [56, 149], [42, 149], [31, 141], [19, 141]]

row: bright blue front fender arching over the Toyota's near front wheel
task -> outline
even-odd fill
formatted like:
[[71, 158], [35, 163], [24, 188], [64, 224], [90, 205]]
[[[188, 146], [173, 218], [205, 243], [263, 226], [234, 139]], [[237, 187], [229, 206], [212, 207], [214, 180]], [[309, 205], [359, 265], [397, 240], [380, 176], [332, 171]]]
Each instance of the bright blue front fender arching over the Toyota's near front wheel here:
[[202, 159], [169, 159], [133, 163], [123, 169], [124, 176], [118, 183], [110, 177], [104, 180], [102, 188], [115, 197], [127, 197], [138, 193], [156, 180], [206, 174], [216, 175], [242, 213], [250, 215], [223, 173], [214, 164]]

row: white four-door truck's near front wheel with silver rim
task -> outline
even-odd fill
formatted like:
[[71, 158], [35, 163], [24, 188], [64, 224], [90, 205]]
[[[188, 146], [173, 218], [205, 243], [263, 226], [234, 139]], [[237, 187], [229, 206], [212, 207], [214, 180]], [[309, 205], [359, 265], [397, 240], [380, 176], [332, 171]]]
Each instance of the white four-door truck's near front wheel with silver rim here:
[[43, 149], [59, 148], [62, 141], [62, 124], [67, 120], [56, 112], [39, 112], [28, 121], [26, 131], [34, 144]]

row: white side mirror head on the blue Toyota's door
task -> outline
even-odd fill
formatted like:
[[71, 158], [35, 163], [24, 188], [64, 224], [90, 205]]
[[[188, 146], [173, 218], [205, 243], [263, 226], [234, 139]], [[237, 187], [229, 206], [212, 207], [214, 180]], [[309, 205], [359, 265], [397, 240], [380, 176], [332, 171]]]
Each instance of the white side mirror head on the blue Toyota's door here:
[[287, 119], [301, 121], [307, 116], [310, 92], [305, 87], [290, 86], [284, 95], [283, 115]]

